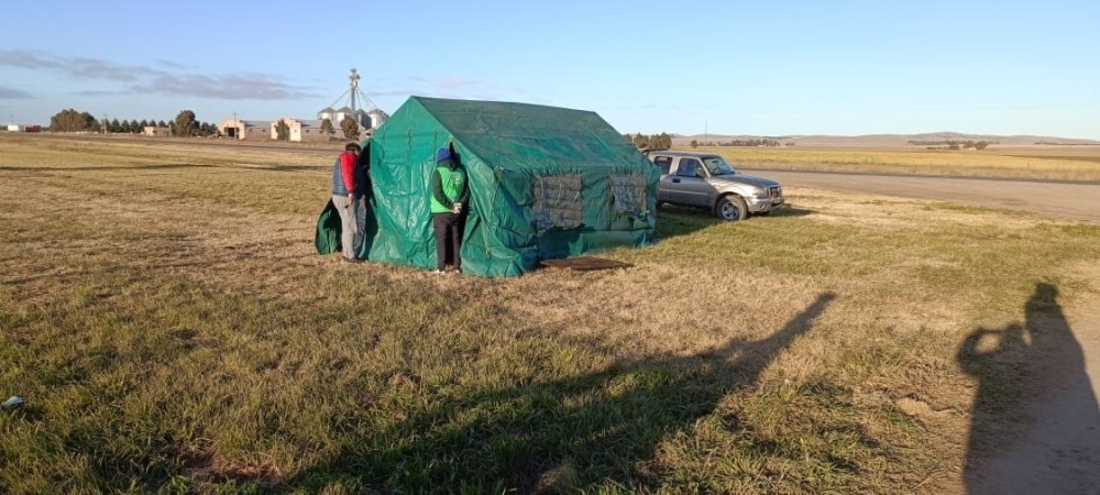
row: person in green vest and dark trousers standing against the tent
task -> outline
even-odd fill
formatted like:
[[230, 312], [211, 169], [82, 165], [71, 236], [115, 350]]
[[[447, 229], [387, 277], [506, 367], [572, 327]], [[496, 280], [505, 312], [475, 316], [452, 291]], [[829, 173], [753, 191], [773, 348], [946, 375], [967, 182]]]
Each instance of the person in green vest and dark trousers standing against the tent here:
[[442, 274], [450, 264], [462, 272], [462, 228], [470, 189], [466, 170], [458, 166], [451, 150], [436, 152], [436, 169], [431, 173], [431, 223], [436, 231], [436, 273]]

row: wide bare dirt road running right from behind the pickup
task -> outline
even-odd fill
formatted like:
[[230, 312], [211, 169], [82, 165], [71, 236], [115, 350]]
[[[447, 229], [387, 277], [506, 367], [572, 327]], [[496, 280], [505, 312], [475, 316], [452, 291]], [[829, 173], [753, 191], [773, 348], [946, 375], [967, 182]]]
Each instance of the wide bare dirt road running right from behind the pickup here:
[[1041, 182], [744, 168], [784, 186], [871, 193], [1025, 210], [1100, 223], [1100, 183]]

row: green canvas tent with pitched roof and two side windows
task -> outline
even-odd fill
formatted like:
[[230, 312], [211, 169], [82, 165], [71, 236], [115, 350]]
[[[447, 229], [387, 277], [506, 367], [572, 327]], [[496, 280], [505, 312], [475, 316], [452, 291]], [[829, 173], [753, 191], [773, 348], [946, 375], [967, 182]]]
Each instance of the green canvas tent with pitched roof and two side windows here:
[[470, 184], [463, 273], [515, 276], [653, 239], [660, 173], [596, 113], [411, 97], [364, 143], [369, 260], [435, 268], [430, 178], [444, 146]]

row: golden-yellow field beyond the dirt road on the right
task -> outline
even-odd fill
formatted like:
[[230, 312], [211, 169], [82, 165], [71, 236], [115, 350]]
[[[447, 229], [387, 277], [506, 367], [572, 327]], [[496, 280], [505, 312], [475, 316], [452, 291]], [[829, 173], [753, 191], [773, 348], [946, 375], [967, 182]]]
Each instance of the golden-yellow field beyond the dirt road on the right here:
[[745, 167], [1100, 180], [1100, 146], [982, 151], [730, 146], [697, 151], [717, 152]]

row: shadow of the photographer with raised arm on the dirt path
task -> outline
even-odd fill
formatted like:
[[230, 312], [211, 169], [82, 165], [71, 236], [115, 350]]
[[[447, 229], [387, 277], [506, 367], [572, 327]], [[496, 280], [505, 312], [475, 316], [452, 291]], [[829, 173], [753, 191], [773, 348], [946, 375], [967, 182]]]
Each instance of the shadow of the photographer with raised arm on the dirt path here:
[[968, 493], [1100, 493], [1100, 410], [1057, 297], [1036, 284], [1023, 323], [978, 329], [959, 346], [959, 365], [978, 381]]

